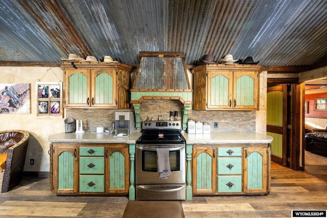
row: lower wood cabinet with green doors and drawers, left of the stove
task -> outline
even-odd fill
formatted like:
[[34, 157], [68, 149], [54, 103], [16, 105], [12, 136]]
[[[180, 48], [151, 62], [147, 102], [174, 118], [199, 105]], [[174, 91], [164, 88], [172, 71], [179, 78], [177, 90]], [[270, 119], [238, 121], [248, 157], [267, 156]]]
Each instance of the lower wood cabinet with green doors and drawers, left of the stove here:
[[128, 149], [125, 143], [52, 143], [52, 191], [57, 195], [128, 196]]

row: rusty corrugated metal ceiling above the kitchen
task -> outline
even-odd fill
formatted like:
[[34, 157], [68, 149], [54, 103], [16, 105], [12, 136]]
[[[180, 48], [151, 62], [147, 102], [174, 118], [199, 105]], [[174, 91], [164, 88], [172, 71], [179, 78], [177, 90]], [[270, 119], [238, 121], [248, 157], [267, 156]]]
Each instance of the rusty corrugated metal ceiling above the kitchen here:
[[137, 64], [145, 52], [252, 56], [266, 66], [325, 65], [327, 0], [2, 0], [0, 61], [75, 53]]

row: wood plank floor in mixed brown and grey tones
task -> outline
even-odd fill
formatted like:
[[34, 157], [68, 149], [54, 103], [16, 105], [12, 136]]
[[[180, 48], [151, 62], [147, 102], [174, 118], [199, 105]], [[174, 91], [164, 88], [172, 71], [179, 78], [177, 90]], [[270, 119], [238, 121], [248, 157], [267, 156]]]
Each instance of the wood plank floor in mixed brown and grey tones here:
[[[292, 209], [327, 209], [327, 182], [272, 163], [267, 196], [194, 197], [183, 201], [185, 217], [291, 217]], [[0, 217], [122, 217], [126, 197], [60, 197], [49, 178], [26, 177], [0, 193]], [[151, 217], [149, 214], [148, 217]]]

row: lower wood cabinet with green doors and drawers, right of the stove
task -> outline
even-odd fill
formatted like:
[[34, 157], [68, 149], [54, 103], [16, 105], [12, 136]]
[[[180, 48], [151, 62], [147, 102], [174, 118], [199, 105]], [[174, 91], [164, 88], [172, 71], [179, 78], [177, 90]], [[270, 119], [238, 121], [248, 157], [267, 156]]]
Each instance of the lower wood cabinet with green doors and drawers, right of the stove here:
[[266, 195], [270, 191], [269, 144], [194, 144], [194, 195]]

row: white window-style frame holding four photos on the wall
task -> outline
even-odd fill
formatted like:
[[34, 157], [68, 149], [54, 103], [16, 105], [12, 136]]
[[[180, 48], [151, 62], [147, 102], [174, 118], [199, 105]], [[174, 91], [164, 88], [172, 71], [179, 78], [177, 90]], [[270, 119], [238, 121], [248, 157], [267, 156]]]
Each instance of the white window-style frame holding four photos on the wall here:
[[37, 117], [62, 118], [62, 82], [37, 82]]

